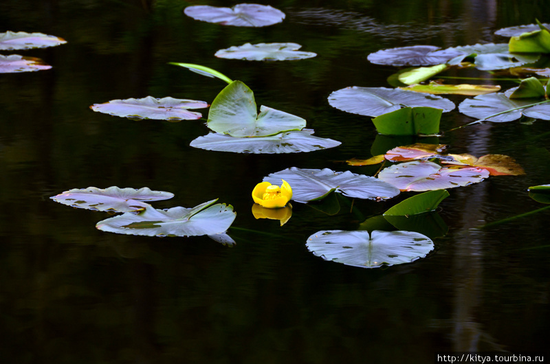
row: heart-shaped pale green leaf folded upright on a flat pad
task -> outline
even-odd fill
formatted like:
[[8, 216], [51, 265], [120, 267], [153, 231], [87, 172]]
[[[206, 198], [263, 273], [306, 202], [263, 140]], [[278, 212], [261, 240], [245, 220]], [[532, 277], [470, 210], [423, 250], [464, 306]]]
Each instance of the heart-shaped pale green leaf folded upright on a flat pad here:
[[212, 102], [208, 128], [232, 137], [266, 137], [289, 130], [300, 130], [301, 117], [267, 106], [256, 112], [254, 93], [241, 81], [233, 81]]

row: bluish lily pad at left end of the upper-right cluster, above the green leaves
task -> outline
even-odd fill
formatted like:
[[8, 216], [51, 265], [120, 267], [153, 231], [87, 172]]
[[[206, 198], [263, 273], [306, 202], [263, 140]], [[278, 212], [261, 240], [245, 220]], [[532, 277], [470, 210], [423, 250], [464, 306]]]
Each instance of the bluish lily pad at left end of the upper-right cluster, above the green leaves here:
[[439, 65], [456, 56], [463, 55], [463, 52], [452, 49], [439, 49], [439, 47], [433, 45], [412, 45], [410, 47], [382, 49], [369, 54], [366, 59], [376, 65], [429, 66]]

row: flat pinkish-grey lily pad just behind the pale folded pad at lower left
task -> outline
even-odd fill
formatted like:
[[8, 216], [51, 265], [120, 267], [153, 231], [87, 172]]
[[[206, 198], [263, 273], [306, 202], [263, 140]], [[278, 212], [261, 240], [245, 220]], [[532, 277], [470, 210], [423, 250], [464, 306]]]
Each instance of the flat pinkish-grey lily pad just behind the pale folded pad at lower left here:
[[141, 211], [150, 206], [142, 201], [167, 200], [173, 196], [173, 193], [151, 191], [148, 187], [136, 190], [135, 188], [112, 186], [103, 190], [97, 187], [88, 187], [80, 190], [74, 188], [50, 198], [58, 203], [63, 203], [63, 205], [78, 207], [80, 209], [132, 212]]

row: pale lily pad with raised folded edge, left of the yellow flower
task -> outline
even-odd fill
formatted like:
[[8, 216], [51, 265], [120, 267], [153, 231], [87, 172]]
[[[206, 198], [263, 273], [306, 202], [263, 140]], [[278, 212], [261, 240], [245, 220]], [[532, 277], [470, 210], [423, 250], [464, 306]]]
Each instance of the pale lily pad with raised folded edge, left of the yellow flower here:
[[[199, 236], [225, 233], [235, 219], [231, 205], [216, 200], [185, 208], [154, 209], [147, 207], [138, 214], [125, 214], [97, 223], [102, 231], [142, 236]], [[215, 239], [214, 239], [215, 240]]]

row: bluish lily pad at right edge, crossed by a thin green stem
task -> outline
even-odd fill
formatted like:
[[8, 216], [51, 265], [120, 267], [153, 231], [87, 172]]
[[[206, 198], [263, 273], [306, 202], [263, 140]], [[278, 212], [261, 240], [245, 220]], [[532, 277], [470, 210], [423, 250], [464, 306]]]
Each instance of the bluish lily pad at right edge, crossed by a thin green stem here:
[[518, 120], [522, 115], [533, 117], [533, 119], [550, 120], [550, 102], [538, 104], [539, 101], [532, 99], [510, 100], [505, 93], [489, 93], [464, 100], [459, 105], [459, 111], [467, 116], [488, 122], [511, 122]]

